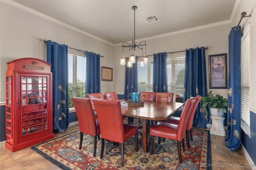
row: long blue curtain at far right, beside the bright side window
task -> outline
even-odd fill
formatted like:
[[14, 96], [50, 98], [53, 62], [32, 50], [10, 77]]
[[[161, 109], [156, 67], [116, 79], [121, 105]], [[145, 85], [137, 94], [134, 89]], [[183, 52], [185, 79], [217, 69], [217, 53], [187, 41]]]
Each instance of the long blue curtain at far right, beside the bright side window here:
[[240, 145], [241, 119], [241, 27], [228, 36], [228, 112], [225, 145], [232, 152]]

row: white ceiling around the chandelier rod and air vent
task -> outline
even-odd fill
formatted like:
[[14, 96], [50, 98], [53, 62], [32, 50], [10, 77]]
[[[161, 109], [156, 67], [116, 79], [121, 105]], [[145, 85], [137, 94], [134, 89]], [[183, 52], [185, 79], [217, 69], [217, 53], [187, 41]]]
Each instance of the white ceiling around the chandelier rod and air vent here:
[[[170, 33], [230, 19], [236, 0], [14, 0], [110, 43]], [[160, 21], [146, 23], [156, 14]]]

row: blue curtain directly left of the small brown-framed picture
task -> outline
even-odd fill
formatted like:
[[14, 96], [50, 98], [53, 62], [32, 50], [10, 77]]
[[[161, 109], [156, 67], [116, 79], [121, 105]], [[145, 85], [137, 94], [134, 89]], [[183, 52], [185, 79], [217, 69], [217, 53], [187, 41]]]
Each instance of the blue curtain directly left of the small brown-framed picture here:
[[86, 94], [100, 93], [100, 55], [86, 51]]

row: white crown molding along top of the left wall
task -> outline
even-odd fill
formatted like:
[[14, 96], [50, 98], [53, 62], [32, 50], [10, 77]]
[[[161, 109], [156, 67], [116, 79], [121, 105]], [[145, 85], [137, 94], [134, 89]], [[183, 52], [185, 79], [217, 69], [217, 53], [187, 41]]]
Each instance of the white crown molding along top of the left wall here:
[[13, 0], [0, 0], [0, 2], [4, 2], [4, 3], [8, 4], [8, 5], [11, 5], [11, 6], [14, 6], [14, 7], [16, 7], [16, 8], [19, 8], [19, 9], [21, 9], [21, 10], [24, 10], [24, 11], [26, 11], [26, 12], [29, 12], [29, 13], [31, 13], [31, 14], [34, 14], [34, 15], [39, 16], [39, 17], [41, 17], [41, 18], [44, 18], [44, 19], [46, 19], [46, 20], [48, 20], [48, 21], [52, 21], [52, 22], [54, 22], [54, 23], [57, 23], [58, 25], [62, 25], [62, 26], [64, 26], [64, 27], [66, 27], [66, 28], [72, 29], [72, 30], [74, 30], [74, 31], [76, 31], [76, 32], [78, 32], [78, 33], [84, 34], [84, 35], [86, 35], [86, 36], [88, 36], [88, 37], [91, 37], [91, 38], [93, 38], [93, 39], [96, 39], [96, 40], [101, 41], [101, 42], [103, 42], [103, 43], [106, 43], [106, 44], [108, 44], [108, 45], [114, 46], [114, 44], [113, 44], [113, 43], [110, 43], [109, 41], [106, 41], [106, 40], [104, 40], [104, 39], [102, 39], [102, 38], [100, 38], [100, 37], [97, 37], [97, 36], [95, 36], [95, 35], [92, 35], [92, 34], [86, 32], [86, 31], [83, 31], [82, 29], [78, 29], [77, 27], [74, 27], [74, 26], [72, 26], [72, 25], [69, 25], [69, 24], [67, 24], [67, 23], [65, 23], [65, 22], [62, 22], [62, 21], [57, 20], [57, 19], [55, 19], [55, 18], [52, 18], [52, 17], [50, 17], [50, 16], [48, 16], [48, 15], [46, 15], [46, 14], [43, 14], [42, 12], [38, 12], [37, 10], [34, 10], [34, 9], [32, 9], [32, 8], [29, 8], [29, 7], [27, 7], [27, 6], [24, 6], [24, 5], [22, 5], [22, 4], [19, 4], [18, 2], [15, 2], [15, 1], [13, 1]]

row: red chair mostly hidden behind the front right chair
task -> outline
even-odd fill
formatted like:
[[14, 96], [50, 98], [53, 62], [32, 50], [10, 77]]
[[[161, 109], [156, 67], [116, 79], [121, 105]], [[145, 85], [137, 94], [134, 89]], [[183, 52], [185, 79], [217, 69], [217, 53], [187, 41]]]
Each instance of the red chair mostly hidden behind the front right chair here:
[[[189, 136], [190, 136], [191, 141], [193, 141], [192, 126], [193, 126], [194, 115], [196, 113], [196, 108], [198, 107], [198, 104], [199, 104], [200, 100], [202, 99], [202, 96], [196, 96], [195, 98], [196, 98], [196, 103], [194, 104], [194, 107], [192, 108], [192, 111], [189, 115], [188, 123], [187, 123], [187, 127], [186, 127], [186, 141], [187, 141], [188, 149], [190, 148]], [[178, 125], [179, 121], [180, 121], [180, 117], [173, 117], [173, 116], [169, 117], [166, 120], [166, 122], [169, 122], [169, 123], [172, 123], [175, 125]]]

